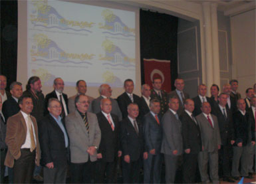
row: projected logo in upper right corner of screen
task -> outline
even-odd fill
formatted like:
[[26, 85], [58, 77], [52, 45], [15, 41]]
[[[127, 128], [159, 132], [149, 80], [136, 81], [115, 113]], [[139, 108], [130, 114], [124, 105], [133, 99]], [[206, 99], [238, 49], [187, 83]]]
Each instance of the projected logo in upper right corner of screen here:
[[121, 19], [117, 15], [114, 15], [109, 9], [102, 11], [101, 15], [104, 17], [105, 23], [99, 23], [99, 28], [107, 30], [102, 33], [122, 35], [124, 37], [135, 37], [135, 29], [127, 27]]

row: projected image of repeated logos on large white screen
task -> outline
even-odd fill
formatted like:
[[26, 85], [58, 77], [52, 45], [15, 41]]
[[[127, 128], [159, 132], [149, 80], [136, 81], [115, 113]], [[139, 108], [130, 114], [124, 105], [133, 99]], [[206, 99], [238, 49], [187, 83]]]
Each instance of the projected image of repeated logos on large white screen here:
[[28, 76], [122, 87], [136, 81], [135, 13], [63, 1], [28, 1]]

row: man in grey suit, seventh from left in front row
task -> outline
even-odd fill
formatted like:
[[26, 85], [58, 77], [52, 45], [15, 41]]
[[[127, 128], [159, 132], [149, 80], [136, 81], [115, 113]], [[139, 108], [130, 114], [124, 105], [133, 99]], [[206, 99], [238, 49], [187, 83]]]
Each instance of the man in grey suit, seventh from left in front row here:
[[176, 96], [170, 98], [169, 109], [162, 118], [163, 140], [161, 153], [164, 153], [166, 163], [166, 183], [174, 183], [178, 161], [183, 153], [182, 122], [178, 117], [179, 100]]

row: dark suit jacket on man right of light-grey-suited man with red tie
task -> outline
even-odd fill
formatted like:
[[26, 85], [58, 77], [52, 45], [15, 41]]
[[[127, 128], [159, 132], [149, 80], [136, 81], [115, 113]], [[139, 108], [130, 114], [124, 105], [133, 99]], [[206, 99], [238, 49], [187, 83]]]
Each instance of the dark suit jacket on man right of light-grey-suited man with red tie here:
[[228, 108], [226, 108], [226, 112], [227, 120], [223, 115], [223, 109], [219, 108], [219, 105], [211, 110], [211, 113], [217, 117], [222, 145], [230, 145], [230, 141], [235, 140], [232, 112]]

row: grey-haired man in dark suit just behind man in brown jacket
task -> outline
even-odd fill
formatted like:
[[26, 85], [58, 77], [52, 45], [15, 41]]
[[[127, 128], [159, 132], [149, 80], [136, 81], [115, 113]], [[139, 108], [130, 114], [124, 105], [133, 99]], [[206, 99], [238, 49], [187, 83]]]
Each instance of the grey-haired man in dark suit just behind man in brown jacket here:
[[23, 94], [21, 82], [13, 82], [10, 85], [11, 98], [3, 103], [3, 116], [5, 116], [5, 122], [8, 118], [17, 114], [20, 110], [18, 100]]

